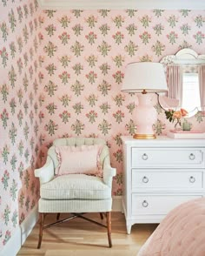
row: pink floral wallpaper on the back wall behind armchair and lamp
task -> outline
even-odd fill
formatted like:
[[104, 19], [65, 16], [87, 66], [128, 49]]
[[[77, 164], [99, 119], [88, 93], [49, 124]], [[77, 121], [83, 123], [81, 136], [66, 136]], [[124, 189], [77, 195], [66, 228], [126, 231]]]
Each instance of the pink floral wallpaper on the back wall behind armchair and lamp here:
[[[42, 69], [42, 134], [46, 146], [68, 136], [105, 138], [122, 195], [121, 135], [135, 132], [136, 95], [121, 91], [126, 64], [159, 62], [185, 47], [204, 53], [205, 11], [45, 10], [38, 34]], [[154, 96], [155, 131], [174, 125]], [[198, 114], [190, 121], [204, 126]]]

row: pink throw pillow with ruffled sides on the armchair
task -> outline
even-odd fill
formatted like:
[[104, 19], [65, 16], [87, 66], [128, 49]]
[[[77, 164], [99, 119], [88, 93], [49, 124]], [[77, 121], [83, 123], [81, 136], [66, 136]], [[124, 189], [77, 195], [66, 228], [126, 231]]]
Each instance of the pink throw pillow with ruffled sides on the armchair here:
[[78, 173], [102, 177], [101, 150], [102, 145], [56, 146], [59, 163], [56, 175]]

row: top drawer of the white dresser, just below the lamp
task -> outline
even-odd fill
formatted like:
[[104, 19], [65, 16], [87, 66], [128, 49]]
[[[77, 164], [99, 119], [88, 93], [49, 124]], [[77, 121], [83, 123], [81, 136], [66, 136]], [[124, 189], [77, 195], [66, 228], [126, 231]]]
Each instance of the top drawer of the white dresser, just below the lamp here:
[[134, 168], [204, 168], [204, 149], [133, 147], [131, 166]]

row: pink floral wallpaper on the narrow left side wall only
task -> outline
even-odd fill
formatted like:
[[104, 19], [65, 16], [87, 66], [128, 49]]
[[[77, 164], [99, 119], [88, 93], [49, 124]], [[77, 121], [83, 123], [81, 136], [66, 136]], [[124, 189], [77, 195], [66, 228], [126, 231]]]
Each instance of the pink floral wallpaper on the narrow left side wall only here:
[[0, 2], [0, 251], [37, 203], [37, 1]]

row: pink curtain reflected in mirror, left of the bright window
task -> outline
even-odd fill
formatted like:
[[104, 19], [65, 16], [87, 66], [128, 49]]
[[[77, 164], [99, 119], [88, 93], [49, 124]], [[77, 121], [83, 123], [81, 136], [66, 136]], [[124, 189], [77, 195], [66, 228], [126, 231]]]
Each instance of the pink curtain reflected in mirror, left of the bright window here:
[[182, 65], [168, 65], [167, 80], [168, 80], [168, 96], [175, 98], [182, 105], [182, 83], [183, 83]]

